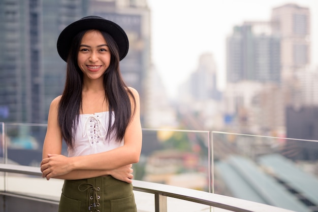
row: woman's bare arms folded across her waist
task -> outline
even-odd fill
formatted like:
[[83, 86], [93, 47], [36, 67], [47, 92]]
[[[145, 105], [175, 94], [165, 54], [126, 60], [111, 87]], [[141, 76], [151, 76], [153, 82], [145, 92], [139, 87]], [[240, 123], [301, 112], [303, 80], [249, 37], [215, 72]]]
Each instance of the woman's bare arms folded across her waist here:
[[[139, 95], [136, 90], [132, 91], [136, 99], [136, 113], [126, 129], [124, 145], [103, 153], [71, 158], [60, 155], [61, 133], [57, 123], [58, 103], [53, 100], [49, 112], [48, 131], [44, 142], [43, 160], [41, 163], [43, 176], [47, 179], [75, 180], [79, 174], [81, 174], [81, 178], [105, 174], [113, 175], [118, 174], [120, 172], [119, 169], [122, 171], [125, 166], [138, 162], [142, 143]], [[105, 163], [105, 161], [107, 162]]]

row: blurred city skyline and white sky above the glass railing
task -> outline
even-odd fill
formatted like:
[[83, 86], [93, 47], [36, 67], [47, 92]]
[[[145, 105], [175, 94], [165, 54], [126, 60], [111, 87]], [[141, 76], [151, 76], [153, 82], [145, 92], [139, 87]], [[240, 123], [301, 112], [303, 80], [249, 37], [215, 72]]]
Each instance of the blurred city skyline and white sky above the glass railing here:
[[317, 139], [317, 11], [306, 0], [1, 0], [0, 121], [46, 123], [65, 82], [57, 37], [98, 15], [128, 33], [120, 67], [143, 127]]

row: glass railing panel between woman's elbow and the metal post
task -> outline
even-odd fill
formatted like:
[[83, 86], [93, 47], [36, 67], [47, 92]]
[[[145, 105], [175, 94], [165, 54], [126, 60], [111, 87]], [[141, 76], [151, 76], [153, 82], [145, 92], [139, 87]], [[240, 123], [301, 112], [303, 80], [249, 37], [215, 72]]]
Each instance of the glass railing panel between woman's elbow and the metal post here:
[[210, 192], [209, 136], [208, 131], [143, 129], [134, 178]]

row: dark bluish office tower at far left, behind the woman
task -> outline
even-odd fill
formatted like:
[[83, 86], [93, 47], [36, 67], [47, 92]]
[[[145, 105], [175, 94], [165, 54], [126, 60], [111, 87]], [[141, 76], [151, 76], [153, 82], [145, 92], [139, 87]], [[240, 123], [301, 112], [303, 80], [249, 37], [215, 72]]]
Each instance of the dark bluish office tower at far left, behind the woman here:
[[46, 122], [65, 80], [56, 40], [62, 27], [82, 16], [85, 2], [0, 1], [0, 121]]

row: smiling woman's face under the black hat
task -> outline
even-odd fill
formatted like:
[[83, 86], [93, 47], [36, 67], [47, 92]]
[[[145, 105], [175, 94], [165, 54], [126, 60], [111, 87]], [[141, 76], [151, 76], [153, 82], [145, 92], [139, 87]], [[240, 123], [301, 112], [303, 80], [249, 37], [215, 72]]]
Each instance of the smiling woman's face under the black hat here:
[[84, 78], [100, 79], [109, 67], [110, 58], [111, 53], [102, 33], [98, 30], [87, 31], [77, 56], [77, 63], [84, 73]]

